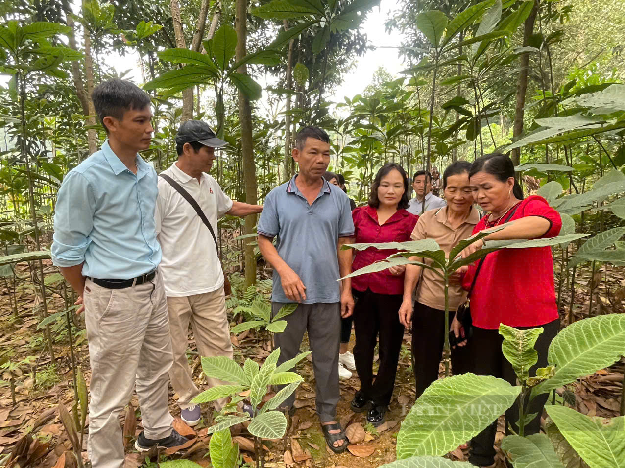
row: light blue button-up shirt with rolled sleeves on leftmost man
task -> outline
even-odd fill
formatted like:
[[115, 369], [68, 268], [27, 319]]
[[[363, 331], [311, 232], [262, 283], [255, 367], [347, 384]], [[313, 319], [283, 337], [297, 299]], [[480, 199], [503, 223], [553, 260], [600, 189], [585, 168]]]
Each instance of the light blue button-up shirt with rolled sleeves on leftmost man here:
[[54, 208], [56, 266], [84, 262], [85, 276], [112, 279], [134, 278], [158, 267], [156, 171], [139, 155], [136, 164], [133, 174], [107, 140], [68, 172]]

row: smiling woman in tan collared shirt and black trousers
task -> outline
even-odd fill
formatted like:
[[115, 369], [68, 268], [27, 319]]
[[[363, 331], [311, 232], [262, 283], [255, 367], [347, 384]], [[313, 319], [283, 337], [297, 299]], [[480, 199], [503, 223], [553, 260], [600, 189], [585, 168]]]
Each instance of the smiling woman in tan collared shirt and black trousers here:
[[[448, 255], [459, 241], [471, 237], [473, 228], [479, 222], [479, 212], [473, 207], [473, 193], [469, 184], [470, 169], [471, 163], [467, 161], [457, 161], [447, 167], [442, 176], [442, 189], [447, 206], [424, 212], [412, 231], [412, 240], [434, 239]], [[426, 263], [431, 264], [431, 261], [426, 259]], [[459, 277], [455, 280], [449, 285], [450, 324], [457, 307], [466, 298], [466, 291], [462, 289]], [[413, 313], [412, 293], [417, 281], [419, 287]], [[417, 398], [438, 378], [442, 347], [447, 333], [444, 311], [442, 278], [429, 269], [407, 265], [399, 321], [406, 328], [412, 326]], [[452, 349], [451, 366], [455, 374], [463, 367], [461, 356], [461, 349]]]

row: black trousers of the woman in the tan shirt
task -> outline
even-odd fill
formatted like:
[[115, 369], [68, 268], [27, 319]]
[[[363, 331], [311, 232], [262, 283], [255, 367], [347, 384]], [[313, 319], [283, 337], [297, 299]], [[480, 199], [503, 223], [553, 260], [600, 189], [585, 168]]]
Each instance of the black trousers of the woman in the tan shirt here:
[[[449, 311], [449, 325], [456, 311]], [[445, 311], [432, 309], [421, 302], [414, 303], [412, 313], [412, 356], [414, 357], [414, 378], [417, 381], [419, 398], [427, 387], [438, 379], [442, 348], [449, 326], [445, 323]], [[464, 347], [451, 350], [451, 369], [454, 376], [466, 372], [469, 356]]]

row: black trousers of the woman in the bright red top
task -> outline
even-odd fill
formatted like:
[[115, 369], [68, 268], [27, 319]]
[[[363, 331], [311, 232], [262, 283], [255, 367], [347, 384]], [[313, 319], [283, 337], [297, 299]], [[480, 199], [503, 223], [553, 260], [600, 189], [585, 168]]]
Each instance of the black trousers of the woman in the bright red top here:
[[[516, 327], [521, 330], [527, 330], [537, 327]], [[534, 349], [538, 352], [538, 362], [529, 369], [529, 376], [536, 376], [538, 367], [547, 366], [547, 351], [551, 340], [556, 336], [560, 328], [560, 320], [556, 319], [552, 322], [542, 325], [543, 331], [538, 336]], [[516, 385], [516, 374], [507, 359], [501, 352], [501, 343], [503, 337], [497, 330], [486, 330], [473, 327], [473, 337], [467, 348], [472, 356], [471, 372], [478, 376], [494, 376]], [[542, 409], [547, 401], [549, 394], [537, 396], [530, 406], [526, 406], [526, 414], [536, 413], [536, 417], [526, 424], [524, 435], [537, 434], [541, 429]], [[518, 431], [516, 422], [519, 420], [519, 406], [515, 402], [512, 407], [506, 411], [506, 434], [509, 433], [509, 426], [512, 426], [515, 432]], [[497, 421], [494, 421], [484, 431], [477, 434], [471, 440], [471, 451], [469, 453], [469, 462], [477, 466], [487, 466], [494, 463], [495, 457], [495, 435], [497, 432]]]

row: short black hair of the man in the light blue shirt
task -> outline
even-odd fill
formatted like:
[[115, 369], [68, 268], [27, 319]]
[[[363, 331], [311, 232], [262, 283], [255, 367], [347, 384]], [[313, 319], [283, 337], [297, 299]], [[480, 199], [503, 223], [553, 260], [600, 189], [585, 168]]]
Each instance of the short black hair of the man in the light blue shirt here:
[[107, 135], [109, 129], [104, 125], [104, 117], [110, 116], [121, 120], [124, 112], [130, 109], [144, 109], [152, 103], [147, 92], [136, 84], [119, 78], [98, 84], [91, 93], [91, 101]]

